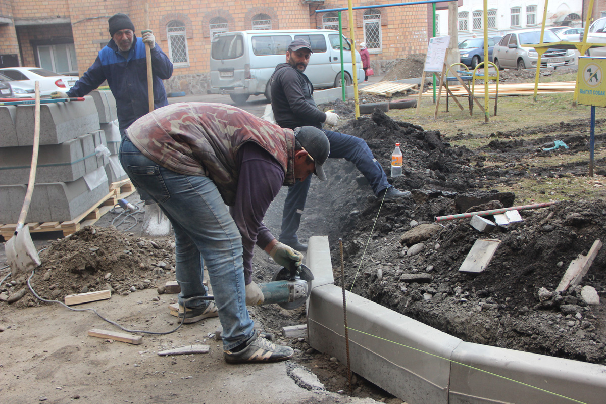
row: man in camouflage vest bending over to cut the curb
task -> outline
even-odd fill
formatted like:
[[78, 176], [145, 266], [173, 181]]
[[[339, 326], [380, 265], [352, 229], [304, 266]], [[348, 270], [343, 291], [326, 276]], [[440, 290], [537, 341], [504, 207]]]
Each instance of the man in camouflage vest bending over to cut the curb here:
[[[175, 230], [179, 317], [191, 323], [219, 316], [227, 362], [293, 356], [292, 348], [259, 337], [248, 315], [246, 304], [264, 300], [252, 282], [253, 248], [284, 267], [301, 265], [302, 254], [279, 243], [262, 219], [282, 185], [312, 173], [325, 180], [328, 153], [328, 139], [317, 128], [281, 128], [223, 104], [168, 105], [127, 130], [122, 167]], [[204, 299], [204, 264], [214, 302]]]

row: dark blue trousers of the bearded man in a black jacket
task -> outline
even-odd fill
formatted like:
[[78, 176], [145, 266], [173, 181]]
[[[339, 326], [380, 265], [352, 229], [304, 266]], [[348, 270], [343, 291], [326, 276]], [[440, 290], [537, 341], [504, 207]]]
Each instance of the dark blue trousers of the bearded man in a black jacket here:
[[[368, 148], [366, 142], [359, 137], [349, 134], [324, 130], [330, 142], [329, 159], [345, 159], [353, 162], [356, 168], [366, 177], [375, 195], [390, 187], [385, 170]], [[297, 231], [301, 224], [301, 215], [307, 200], [307, 191], [311, 184], [311, 176], [302, 182], [297, 182], [288, 188], [288, 194], [282, 211], [282, 233], [279, 240], [294, 243], [298, 240]]]

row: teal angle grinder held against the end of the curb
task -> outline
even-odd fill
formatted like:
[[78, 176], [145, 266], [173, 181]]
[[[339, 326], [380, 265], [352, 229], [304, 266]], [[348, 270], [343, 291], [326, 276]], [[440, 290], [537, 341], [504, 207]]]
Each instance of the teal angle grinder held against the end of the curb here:
[[273, 274], [271, 282], [258, 283], [265, 298], [262, 305], [278, 303], [287, 310], [301, 307], [311, 293], [313, 274], [305, 265], [282, 267]]

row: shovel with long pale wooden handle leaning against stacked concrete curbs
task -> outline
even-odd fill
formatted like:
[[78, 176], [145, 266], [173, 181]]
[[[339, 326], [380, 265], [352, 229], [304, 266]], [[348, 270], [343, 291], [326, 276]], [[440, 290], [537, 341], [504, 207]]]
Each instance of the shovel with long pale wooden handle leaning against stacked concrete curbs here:
[[6, 253], [6, 261], [12, 271], [12, 276], [15, 277], [20, 272], [33, 271], [42, 263], [38, 256], [38, 250], [30, 236], [30, 228], [25, 224], [25, 217], [32, 202], [32, 193], [34, 191], [34, 183], [36, 182], [36, 167], [38, 166], [38, 146], [40, 144], [40, 83], [36, 81], [36, 108], [34, 118], [34, 145], [32, 153], [32, 167], [30, 168], [30, 179], [27, 183], [27, 191], [25, 192], [25, 200], [21, 207], [21, 214], [15, 234], [4, 245]]

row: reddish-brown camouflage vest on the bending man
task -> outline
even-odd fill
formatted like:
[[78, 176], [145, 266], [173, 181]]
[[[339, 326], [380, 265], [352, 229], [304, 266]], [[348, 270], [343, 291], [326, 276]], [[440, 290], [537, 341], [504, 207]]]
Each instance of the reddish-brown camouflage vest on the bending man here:
[[141, 153], [162, 167], [209, 177], [229, 206], [236, 200], [236, 154], [245, 142], [256, 142], [267, 150], [286, 173], [284, 185], [295, 184], [293, 131], [231, 105], [167, 105], [135, 121], [127, 136]]

